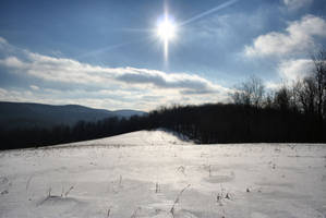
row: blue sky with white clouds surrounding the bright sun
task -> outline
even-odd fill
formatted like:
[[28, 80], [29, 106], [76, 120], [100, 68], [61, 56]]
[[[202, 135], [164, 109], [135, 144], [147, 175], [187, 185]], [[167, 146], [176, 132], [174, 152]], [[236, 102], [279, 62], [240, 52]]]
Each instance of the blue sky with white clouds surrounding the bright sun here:
[[325, 45], [325, 0], [1, 0], [0, 100], [144, 111], [228, 102], [252, 75], [267, 89], [309, 75]]

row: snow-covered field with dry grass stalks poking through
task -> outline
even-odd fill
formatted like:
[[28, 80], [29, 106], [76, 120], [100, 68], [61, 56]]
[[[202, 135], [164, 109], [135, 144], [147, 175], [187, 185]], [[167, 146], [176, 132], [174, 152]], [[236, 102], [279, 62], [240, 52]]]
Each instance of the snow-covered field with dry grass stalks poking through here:
[[326, 145], [142, 131], [0, 152], [0, 217], [326, 217]]

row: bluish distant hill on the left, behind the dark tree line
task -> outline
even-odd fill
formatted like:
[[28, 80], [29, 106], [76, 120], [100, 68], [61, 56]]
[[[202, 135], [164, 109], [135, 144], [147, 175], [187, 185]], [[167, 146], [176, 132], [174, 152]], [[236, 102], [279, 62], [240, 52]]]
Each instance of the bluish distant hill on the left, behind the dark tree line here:
[[58, 124], [73, 125], [80, 120], [98, 121], [111, 117], [130, 118], [134, 114], [143, 116], [145, 112], [137, 110], [110, 111], [79, 105], [52, 106], [0, 101], [0, 129], [52, 128]]

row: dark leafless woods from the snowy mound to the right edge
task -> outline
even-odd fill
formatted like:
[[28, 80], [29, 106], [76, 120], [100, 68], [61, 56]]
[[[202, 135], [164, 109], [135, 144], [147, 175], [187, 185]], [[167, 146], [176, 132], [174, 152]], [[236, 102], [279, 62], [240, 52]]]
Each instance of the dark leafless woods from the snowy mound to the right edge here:
[[230, 93], [232, 104], [174, 106], [149, 117], [200, 143], [326, 142], [326, 50], [312, 62], [309, 76], [292, 84], [266, 90], [251, 76]]

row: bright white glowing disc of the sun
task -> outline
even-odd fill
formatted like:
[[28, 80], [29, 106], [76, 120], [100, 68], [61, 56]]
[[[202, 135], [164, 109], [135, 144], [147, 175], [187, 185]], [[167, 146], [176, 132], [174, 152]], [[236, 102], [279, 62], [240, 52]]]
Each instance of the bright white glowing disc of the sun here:
[[164, 41], [169, 41], [176, 37], [176, 24], [174, 22], [165, 16], [162, 21], [157, 24], [157, 35]]

